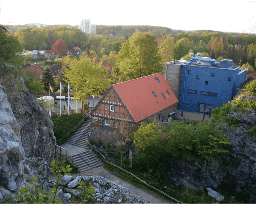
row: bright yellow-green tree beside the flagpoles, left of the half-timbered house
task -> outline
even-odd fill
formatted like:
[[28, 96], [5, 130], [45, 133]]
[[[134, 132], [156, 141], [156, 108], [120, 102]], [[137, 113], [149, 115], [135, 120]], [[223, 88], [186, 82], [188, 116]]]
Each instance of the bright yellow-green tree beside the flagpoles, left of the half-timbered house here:
[[87, 95], [100, 96], [108, 89], [108, 70], [102, 66], [103, 61], [96, 63], [96, 60], [96, 57], [80, 55], [79, 59], [74, 58], [68, 63], [64, 77], [74, 90], [75, 100], [86, 102]]

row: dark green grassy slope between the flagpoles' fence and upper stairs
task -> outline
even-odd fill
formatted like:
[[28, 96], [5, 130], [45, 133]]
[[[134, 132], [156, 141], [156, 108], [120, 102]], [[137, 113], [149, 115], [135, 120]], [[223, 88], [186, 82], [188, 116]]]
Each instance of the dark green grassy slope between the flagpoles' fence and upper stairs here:
[[[87, 119], [85, 119], [85, 121]], [[72, 128], [74, 128], [74, 126], [76, 126], [76, 124], [78, 124], [80, 120], [82, 120], [82, 114], [72, 114], [69, 116], [63, 115], [61, 117], [53, 116], [52, 117], [52, 121], [54, 123], [53, 131], [54, 131], [54, 136], [56, 137], [56, 140], [64, 137]], [[74, 131], [76, 131], [76, 129]], [[74, 133], [74, 131], [70, 133], [70, 136], [72, 135], [72, 133]], [[68, 138], [69, 137], [67, 136], [64, 139], [58, 141], [58, 145], [63, 144]]]

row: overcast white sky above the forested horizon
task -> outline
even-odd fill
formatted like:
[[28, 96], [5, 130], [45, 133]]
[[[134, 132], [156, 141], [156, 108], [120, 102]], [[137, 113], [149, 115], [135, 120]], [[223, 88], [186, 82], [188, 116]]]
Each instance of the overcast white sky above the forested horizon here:
[[256, 0], [0, 0], [0, 24], [4, 25], [78, 26], [89, 18], [96, 25], [256, 33]]

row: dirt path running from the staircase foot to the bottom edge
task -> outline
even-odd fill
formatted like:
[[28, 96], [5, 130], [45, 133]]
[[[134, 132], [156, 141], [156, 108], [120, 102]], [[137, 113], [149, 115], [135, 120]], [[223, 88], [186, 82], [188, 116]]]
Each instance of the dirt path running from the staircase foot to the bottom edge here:
[[[116, 177], [115, 175], [112, 174], [112, 172], [104, 169], [102, 166], [100, 167], [96, 167], [94, 169], [90, 169], [88, 171], [85, 171], [83, 173], [78, 173], [78, 174], [71, 174], [72, 177], [76, 178], [78, 176], [98, 176], [98, 177], [104, 177], [107, 180], [111, 180], [113, 182], [115, 182], [118, 185], [124, 186], [125, 188], [129, 189], [130, 191], [132, 191], [134, 194], [136, 194], [137, 196], [140, 196], [142, 199], [150, 202], [150, 203], [170, 203], [170, 201], [164, 200], [162, 198], [160, 198], [158, 195], [152, 193], [152, 192], [148, 192], [145, 189], [142, 188], [138, 188], [133, 186], [132, 184]], [[49, 176], [49, 180], [53, 180], [54, 177], [52, 175]]]

